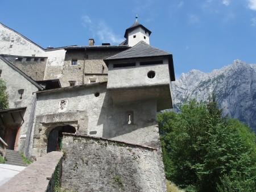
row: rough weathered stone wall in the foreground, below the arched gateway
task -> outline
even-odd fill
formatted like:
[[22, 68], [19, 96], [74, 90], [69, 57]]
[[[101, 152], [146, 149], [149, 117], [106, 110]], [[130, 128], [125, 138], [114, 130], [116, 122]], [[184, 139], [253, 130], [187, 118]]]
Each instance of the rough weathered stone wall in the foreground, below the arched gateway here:
[[67, 133], [62, 188], [72, 191], [166, 191], [155, 148]]

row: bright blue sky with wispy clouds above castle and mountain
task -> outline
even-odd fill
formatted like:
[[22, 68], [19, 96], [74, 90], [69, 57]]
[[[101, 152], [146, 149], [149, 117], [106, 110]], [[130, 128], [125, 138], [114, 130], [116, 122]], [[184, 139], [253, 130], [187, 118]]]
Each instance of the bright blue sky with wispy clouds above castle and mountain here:
[[135, 22], [150, 45], [170, 52], [175, 74], [211, 72], [240, 59], [256, 63], [256, 0], [8, 0], [0, 22], [43, 48], [118, 45]]

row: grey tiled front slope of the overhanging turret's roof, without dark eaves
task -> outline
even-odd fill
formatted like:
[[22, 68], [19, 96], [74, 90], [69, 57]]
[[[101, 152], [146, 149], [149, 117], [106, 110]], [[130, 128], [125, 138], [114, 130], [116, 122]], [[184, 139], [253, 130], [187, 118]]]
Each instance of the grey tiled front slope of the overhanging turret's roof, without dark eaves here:
[[155, 57], [155, 56], [168, 56], [171, 53], [166, 51], [162, 51], [158, 48], [152, 47], [148, 45], [144, 41], [139, 41], [138, 44], [134, 45], [130, 49], [117, 53], [116, 55], [110, 56], [105, 59], [108, 60], [116, 60], [116, 59], [130, 59], [130, 58], [138, 58], [138, 57]]

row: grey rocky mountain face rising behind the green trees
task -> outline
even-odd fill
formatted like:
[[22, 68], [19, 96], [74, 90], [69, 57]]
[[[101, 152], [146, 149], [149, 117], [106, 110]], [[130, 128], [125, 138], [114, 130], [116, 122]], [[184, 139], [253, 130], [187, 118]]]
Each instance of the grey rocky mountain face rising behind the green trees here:
[[172, 84], [174, 109], [179, 111], [192, 98], [206, 101], [213, 92], [224, 115], [239, 119], [256, 131], [256, 64], [234, 60], [233, 64], [210, 73], [182, 73]]

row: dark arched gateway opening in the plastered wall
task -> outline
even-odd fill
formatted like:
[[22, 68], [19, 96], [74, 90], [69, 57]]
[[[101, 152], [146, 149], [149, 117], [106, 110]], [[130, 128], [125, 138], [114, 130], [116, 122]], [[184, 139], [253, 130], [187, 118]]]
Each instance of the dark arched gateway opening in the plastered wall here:
[[60, 151], [62, 145], [63, 132], [75, 133], [76, 128], [69, 125], [57, 126], [49, 132], [48, 143], [47, 143], [47, 153], [52, 151]]

